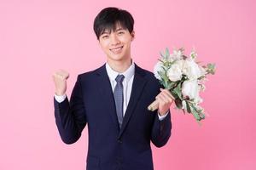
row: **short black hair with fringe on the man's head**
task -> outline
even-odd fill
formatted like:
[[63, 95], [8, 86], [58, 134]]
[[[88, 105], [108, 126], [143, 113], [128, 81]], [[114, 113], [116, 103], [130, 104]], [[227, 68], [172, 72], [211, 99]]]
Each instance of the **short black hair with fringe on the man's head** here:
[[102, 11], [97, 14], [93, 24], [97, 39], [99, 39], [106, 30], [110, 32], [115, 31], [116, 24], [119, 24], [119, 26], [122, 26], [124, 29], [128, 29], [131, 33], [131, 31], [133, 31], [134, 20], [131, 14], [124, 9], [115, 7], [103, 8]]

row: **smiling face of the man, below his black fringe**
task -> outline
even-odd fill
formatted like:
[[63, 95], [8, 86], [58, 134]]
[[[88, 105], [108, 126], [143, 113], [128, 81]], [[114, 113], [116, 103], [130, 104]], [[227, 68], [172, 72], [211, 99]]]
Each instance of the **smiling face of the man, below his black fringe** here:
[[117, 24], [115, 31], [104, 31], [99, 37], [102, 50], [107, 54], [108, 60], [125, 61], [131, 59], [131, 41], [134, 39], [134, 31], [131, 33]]

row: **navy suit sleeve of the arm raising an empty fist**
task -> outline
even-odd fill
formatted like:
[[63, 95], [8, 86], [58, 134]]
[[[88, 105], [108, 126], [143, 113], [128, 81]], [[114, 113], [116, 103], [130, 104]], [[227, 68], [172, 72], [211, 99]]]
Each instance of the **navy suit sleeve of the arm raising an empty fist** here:
[[70, 101], [66, 98], [61, 103], [54, 98], [55, 123], [65, 144], [75, 143], [86, 125], [83, 93], [80, 77], [73, 88]]

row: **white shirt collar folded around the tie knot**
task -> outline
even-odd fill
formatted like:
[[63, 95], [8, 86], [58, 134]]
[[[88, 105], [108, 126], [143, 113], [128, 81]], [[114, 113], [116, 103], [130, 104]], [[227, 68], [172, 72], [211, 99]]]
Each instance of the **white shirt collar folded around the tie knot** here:
[[108, 62], [106, 62], [106, 70], [108, 73], [108, 77], [115, 81], [115, 78], [119, 75], [122, 74], [125, 76], [126, 81], [129, 81], [131, 79], [132, 76], [134, 76], [134, 72], [135, 72], [135, 65], [134, 62], [131, 60], [131, 65], [130, 67], [122, 73], [119, 73], [117, 71], [113, 71], [113, 69], [110, 67], [110, 65], [108, 65]]

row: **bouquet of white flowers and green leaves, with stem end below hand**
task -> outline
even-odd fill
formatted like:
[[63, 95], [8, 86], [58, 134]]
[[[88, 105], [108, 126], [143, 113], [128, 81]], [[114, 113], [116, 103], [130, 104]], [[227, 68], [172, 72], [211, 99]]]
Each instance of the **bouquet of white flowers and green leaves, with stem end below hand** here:
[[[197, 54], [192, 50], [189, 56], [183, 54], [184, 49], [174, 49], [170, 54], [168, 48], [164, 54], [160, 53], [160, 59], [154, 66], [154, 77], [170, 91], [175, 98], [177, 109], [192, 114], [200, 123], [205, 119], [205, 111], [199, 105], [202, 99], [199, 95], [205, 90], [204, 82], [208, 74], [215, 73], [215, 64], [200, 65], [196, 62]], [[158, 101], [148, 105], [149, 111], [158, 109]]]

